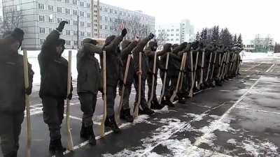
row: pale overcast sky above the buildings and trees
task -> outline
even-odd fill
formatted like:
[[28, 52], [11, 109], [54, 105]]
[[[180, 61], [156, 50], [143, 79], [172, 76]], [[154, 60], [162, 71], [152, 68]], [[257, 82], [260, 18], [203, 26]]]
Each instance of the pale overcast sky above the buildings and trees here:
[[279, 0], [100, 0], [113, 6], [142, 10], [155, 17], [156, 24], [189, 19], [199, 31], [203, 27], [228, 27], [251, 40], [257, 33], [270, 34], [280, 42]]

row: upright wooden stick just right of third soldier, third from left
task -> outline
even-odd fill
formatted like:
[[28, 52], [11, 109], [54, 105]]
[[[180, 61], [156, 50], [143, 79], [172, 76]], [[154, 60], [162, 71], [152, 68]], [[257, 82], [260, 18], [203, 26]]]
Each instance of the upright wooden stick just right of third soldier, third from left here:
[[105, 136], [105, 121], [106, 121], [106, 117], [107, 117], [107, 98], [106, 98], [106, 51], [103, 51], [103, 55], [102, 55], [102, 59], [103, 59], [103, 65], [102, 65], [102, 73], [103, 73], [103, 92], [104, 92], [104, 96], [103, 96], [103, 118], [101, 121], [101, 126], [100, 126], [100, 136], [104, 137]]

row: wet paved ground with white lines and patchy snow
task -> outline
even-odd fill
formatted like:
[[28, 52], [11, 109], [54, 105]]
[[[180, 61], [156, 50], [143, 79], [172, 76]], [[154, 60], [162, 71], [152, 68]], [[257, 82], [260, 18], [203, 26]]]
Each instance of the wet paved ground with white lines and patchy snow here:
[[[223, 87], [207, 89], [186, 104], [141, 115], [133, 124], [123, 123], [122, 133], [106, 130], [99, 139], [102, 98], [94, 115], [97, 146], [80, 140], [80, 105], [71, 101], [71, 128], [75, 151], [69, 157], [87, 156], [280, 156], [280, 59], [243, 63], [241, 75]], [[158, 80], [158, 93], [161, 82]], [[38, 89], [35, 87], [35, 89]], [[132, 91], [131, 104], [135, 91]], [[118, 98], [116, 100], [118, 104]], [[48, 154], [48, 129], [43, 123], [41, 100], [31, 98], [32, 156]], [[25, 156], [26, 124], [22, 124], [19, 156]], [[66, 128], [62, 126], [66, 145]], [[1, 156], [1, 155], [0, 155]]]

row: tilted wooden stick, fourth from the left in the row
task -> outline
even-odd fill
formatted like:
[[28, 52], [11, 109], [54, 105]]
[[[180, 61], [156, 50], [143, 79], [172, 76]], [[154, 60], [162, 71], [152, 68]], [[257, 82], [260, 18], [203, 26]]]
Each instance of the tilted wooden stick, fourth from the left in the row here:
[[122, 95], [120, 96], [120, 103], [118, 105], [118, 112], [116, 113], [116, 123], [120, 124], [120, 110], [123, 108], [123, 96], [125, 94], [125, 84], [127, 83], [127, 74], [130, 69], [130, 60], [132, 55], [129, 54], [127, 57], [127, 66], [125, 67], [125, 76], [123, 77], [123, 87], [122, 87]]

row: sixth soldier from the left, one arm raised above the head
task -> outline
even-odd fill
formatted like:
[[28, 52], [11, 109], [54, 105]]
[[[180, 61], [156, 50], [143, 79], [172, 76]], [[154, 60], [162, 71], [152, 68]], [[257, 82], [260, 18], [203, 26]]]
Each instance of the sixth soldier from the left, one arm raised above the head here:
[[[142, 112], [144, 112], [144, 114], [148, 114], [148, 115], [152, 115], [155, 114], [155, 112], [151, 109], [149, 109], [148, 104], [147, 104], [147, 100], [145, 98], [145, 82], [146, 82], [146, 78], [148, 75], [148, 63], [147, 63], [147, 57], [144, 53], [144, 47], [145, 45], [148, 43], [149, 40], [153, 39], [155, 37], [155, 35], [153, 33], [150, 33], [150, 35], [147, 38], [142, 39], [137, 47], [134, 48], [132, 54], [133, 54], [133, 63], [134, 63], [134, 69], [136, 71], [135, 75], [134, 75], [134, 87], [137, 91], [136, 97], [135, 97], [135, 103], [134, 105], [137, 105], [137, 101], [138, 101], [138, 94], [139, 94], [139, 80], [137, 79], [138, 75], [141, 75], [141, 107], [142, 107]], [[142, 53], [142, 58], [141, 58], [141, 70], [139, 69], [139, 53]], [[135, 109], [134, 109], [135, 110]]]

